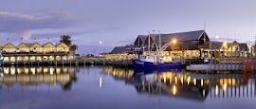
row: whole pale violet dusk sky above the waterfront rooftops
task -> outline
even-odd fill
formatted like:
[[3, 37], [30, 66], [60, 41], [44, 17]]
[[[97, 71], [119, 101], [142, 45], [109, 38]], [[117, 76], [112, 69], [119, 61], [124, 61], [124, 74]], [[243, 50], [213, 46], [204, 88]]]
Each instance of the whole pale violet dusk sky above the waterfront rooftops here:
[[[130, 45], [150, 30], [172, 33], [204, 29], [211, 38], [253, 41], [255, 0], [0, 0], [0, 40]], [[102, 44], [100, 45], [100, 42]], [[80, 47], [81, 50], [86, 50]], [[97, 52], [97, 51], [95, 51]]]

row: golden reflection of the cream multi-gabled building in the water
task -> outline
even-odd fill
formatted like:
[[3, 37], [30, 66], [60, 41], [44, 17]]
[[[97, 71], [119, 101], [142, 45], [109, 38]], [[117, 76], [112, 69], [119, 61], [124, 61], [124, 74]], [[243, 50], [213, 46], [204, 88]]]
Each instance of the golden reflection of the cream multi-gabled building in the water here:
[[70, 90], [76, 80], [75, 67], [3, 67], [0, 85], [11, 88], [16, 83], [22, 86], [58, 84], [63, 90]]

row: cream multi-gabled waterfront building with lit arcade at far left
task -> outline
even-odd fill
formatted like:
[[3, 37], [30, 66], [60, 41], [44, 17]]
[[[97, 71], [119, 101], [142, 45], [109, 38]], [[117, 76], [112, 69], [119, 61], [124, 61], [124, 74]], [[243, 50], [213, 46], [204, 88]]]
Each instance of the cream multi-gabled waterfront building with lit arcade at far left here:
[[70, 47], [64, 43], [56, 45], [51, 42], [45, 45], [37, 42], [19, 45], [7, 43], [1, 46], [1, 50], [4, 63], [58, 62], [76, 59], [75, 52], [70, 52]]

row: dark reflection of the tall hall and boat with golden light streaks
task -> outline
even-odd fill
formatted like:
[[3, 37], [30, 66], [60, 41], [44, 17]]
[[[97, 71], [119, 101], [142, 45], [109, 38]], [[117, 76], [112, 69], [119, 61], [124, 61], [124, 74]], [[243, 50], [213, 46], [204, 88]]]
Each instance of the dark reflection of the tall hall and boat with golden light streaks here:
[[206, 99], [254, 98], [253, 74], [222, 72], [202, 74], [188, 71], [137, 72], [132, 69], [104, 67], [114, 79], [135, 86], [138, 94], [159, 95], [175, 99], [204, 101]]

